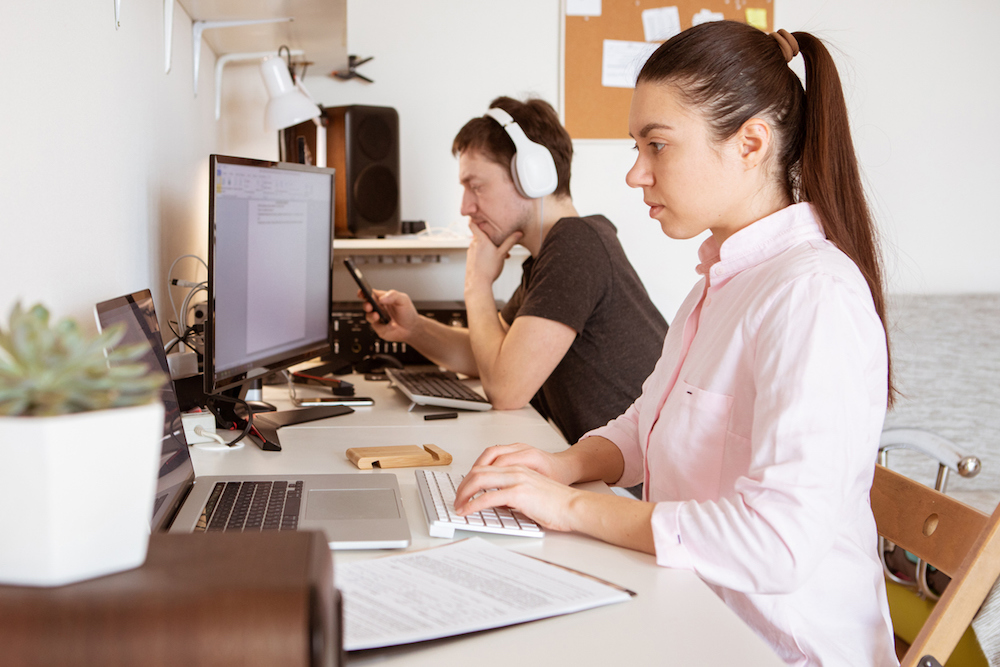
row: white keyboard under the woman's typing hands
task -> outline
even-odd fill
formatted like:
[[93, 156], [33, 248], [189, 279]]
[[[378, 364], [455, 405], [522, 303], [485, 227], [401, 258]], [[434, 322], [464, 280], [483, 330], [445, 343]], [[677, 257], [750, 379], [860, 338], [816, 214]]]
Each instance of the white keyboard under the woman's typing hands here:
[[414, 472], [431, 537], [451, 538], [455, 536], [456, 530], [521, 537], [545, 536], [545, 531], [537, 523], [507, 507], [494, 507], [469, 516], [459, 516], [455, 514], [455, 489], [464, 475], [453, 475], [441, 470]]

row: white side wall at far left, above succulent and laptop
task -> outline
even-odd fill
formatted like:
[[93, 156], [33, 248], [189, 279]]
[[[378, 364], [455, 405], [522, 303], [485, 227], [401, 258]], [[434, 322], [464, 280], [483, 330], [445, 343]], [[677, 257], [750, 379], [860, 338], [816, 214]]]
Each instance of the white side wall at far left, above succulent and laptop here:
[[[204, 254], [212, 98], [192, 94], [181, 10], [164, 74], [162, 13], [158, 2], [124, 2], [115, 30], [112, 0], [0, 9], [4, 322], [18, 299], [85, 324], [96, 301], [145, 287], [165, 306], [170, 260]], [[212, 66], [203, 59], [203, 83]]]

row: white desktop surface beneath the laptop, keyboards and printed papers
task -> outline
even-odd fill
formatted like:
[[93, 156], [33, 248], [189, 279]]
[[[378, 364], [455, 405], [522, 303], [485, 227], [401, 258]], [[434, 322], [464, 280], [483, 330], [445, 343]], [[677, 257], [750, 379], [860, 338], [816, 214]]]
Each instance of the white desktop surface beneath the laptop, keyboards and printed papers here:
[[[281, 452], [247, 443], [240, 450], [212, 452], [193, 448], [199, 475], [257, 473], [343, 473], [359, 471], [347, 459], [349, 447], [433, 443], [453, 457], [446, 467], [465, 473], [485, 447], [528, 442], [549, 451], [566, 447], [562, 436], [537, 412], [460, 412], [458, 419], [425, 421], [437, 408], [415, 408], [385, 383], [358, 376], [359, 396], [375, 405], [354, 414], [283, 428]], [[309, 389], [299, 388], [303, 395]], [[265, 397], [284, 408], [283, 388], [266, 388]], [[383, 471], [385, 472], [385, 471]], [[411, 549], [440, 545], [427, 534], [413, 470], [393, 469], [399, 478], [412, 535]], [[602, 483], [589, 487], [608, 491]], [[465, 535], [469, 535], [466, 533]], [[481, 533], [476, 535], [482, 536]], [[461, 537], [458, 533], [457, 537]], [[607, 579], [638, 593], [631, 601], [474, 635], [352, 653], [352, 665], [740, 665], [783, 663], [692, 572], [658, 567], [652, 556], [611, 546], [589, 537], [549, 532], [544, 539], [485, 536], [504, 547]], [[336, 563], [373, 558], [389, 551], [337, 551]]]

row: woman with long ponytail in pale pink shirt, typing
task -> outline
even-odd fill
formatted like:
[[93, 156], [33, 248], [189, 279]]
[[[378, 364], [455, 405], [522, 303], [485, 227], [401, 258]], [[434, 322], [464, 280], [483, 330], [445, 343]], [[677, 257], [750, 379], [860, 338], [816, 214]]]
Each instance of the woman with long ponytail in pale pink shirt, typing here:
[[[710, 232], [701, 280], [625, 414], [558, 454], [489, 448], [456, 509], [691, 569], [790, 665], [896, 665], [868, 500], [892, 397], [881, 263], [833, 59], [804, 32], [697, 26], [646, 62], [629, 130], [650, 217]], [[645, 497], [568, 486], [594, 479]]]

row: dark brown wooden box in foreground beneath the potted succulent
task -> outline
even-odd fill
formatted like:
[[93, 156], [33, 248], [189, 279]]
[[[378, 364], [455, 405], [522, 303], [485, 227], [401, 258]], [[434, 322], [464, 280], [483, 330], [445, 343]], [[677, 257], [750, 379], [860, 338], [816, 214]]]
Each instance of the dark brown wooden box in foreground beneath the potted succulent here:
[[319, 532], [155, 534], [134, 570], [57, 588], [0, 586], [5, 667], [333, 667], [342, 645]]

